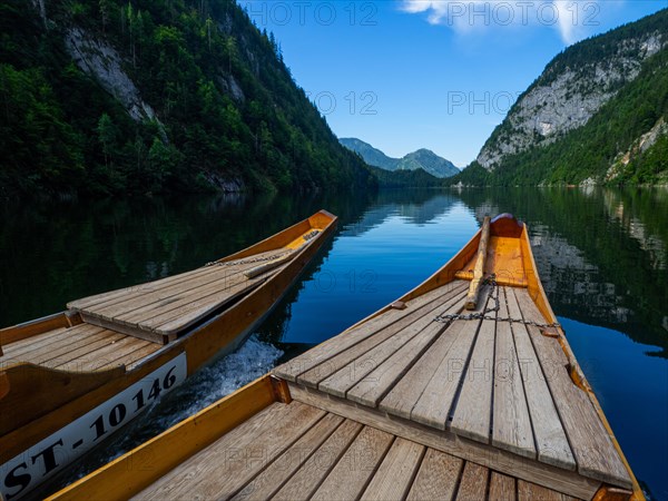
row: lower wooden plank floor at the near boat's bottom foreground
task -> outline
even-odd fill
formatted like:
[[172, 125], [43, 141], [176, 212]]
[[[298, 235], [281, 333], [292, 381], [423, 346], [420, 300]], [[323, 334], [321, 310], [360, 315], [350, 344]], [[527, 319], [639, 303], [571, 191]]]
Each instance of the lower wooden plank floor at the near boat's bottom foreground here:
[[135, 499], [576, 499], [293, 401], [274, 403]]

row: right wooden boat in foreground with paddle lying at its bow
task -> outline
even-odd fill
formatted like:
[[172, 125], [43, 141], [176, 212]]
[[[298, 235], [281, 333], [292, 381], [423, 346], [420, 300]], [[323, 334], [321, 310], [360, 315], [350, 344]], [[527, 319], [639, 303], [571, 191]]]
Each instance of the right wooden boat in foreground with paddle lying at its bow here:
[[507, 215], [399, 301], [51, 499], [130, 497], [644, 499]]

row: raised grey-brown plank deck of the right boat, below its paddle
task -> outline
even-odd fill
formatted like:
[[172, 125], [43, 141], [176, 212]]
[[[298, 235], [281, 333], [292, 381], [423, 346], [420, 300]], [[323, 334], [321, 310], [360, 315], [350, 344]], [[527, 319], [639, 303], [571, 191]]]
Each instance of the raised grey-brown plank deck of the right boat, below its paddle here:
[[[631, 489], [558, 330], [523, 287], [454, 281], [310, 350], [274, 374], [292, 397], [456, 456], [494, 455], [564, 482]], [[520, 475], [521, 477], [521, 475]]]

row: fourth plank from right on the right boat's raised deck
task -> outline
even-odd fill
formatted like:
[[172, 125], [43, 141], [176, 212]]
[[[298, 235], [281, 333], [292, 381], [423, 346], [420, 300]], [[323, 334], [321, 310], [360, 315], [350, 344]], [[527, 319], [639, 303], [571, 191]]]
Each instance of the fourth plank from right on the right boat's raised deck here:
[[[490, 297], [490, 304], [494, 298], [498, 299], [498, 291], [492, 292], [491, 296], [494, 297]], [[491, 316], [497, 315], [493, 313]], [[495, 327], [492, 320], [484, 320], [480, 324], [450, 425], [456, 434], [483, 443], [490, 442]]]

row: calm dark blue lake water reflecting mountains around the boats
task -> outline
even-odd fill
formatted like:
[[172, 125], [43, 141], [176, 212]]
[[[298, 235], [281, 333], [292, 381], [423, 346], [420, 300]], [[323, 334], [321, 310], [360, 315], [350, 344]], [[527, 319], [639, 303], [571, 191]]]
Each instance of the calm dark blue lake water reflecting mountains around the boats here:
[[0, 206], [0, 326], [199, 266], [326, 208], [334, 238], [238, 352], [57, 483], [104, 464], [394, 301], [484, 215], [529, 225], [550, 303], [640, 482], [668, 499], [668, 191], [396, 190]]

